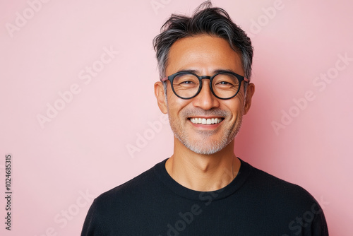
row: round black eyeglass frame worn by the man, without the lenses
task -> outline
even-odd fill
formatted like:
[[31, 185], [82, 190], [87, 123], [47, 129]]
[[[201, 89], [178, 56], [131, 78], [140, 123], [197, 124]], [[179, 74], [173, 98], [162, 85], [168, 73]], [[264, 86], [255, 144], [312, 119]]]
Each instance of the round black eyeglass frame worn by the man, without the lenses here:
[[[174, 90], [173, 80], [174, 80], [174, 78], [175, 78], [176, 76], [178, 76], [178, 75], [180, 75], [180, 74], [182, 74], [182, 73], [189, 73], [189, 74], [192, 74], [193, 76], [196, 76], [196, 77], [198, 78], [198, 81], [200, 82], [200, 84], [198, 85], [198, 91], [196, 92], [195, 95], [193, 95], [193, 96], [190, 97], [190, 98], [183, 98], [183, 97], [177, 95], [177, 93], [176, 93], [175, 90]], [[218, 97], [218, 96], [215, 94], [215, 91], [213, 91], [213, 88], [212, 88], [213, 78], [215, 78], [215, 76], [217, 76], [217, 75], [219, 75], [219, 74], [221, 74], [221, 73], [230, 73], [230, 74], [232, 74], [233, 76], [237, 77], [237, 79], [238, 79], [239, 88], [238, 88], [238, 90], [237, 90], [237, 93], [235, 93], [232, 97], [229, 97], [229, 98], [220, 98], [220, 97]], [[170, 85], [171, 85], [171, 87], [172, 87], [173, 93], [174, 93], [175, 95], [177, 95], [178, 98], [188, 100], [188, 99], [191, 99], [191, 98], [195, 98], [195, 97], [201, 92], [201, 89], [202, 89], [202, 80], [203, 80], [204, 78], [210, 80], [210, 84], [209, 84], [209, 85], [210, 85], [210, 90], [211, 90], [212, 94], [213, 94], [216, 98], [222, 99], [222, 100], [228, 100], [228, 99], [234, 98], [234, 97], [237, 96], [237, 94], [239, 93], [239, 90], [240, 90], [240, 87], [241, 87], [241, 82], [243, 82], [243, 81], [244, 81], [244, 83], [248, 83], [248, 82], [249, 82], [249, 79], [248, 79], [248, 78], [245, 78], [244, 76], [241, 76], [241, 75], [239, 75], [239, 74], [237, 74], [237, 73], [234, 73], [234, 72], [232, 72], [232, 71], [220, 71], [220, 72], [215, 73], [213, 76], [198, 76], [196, 73], [193, 73], [193, 72], [191, 72], [191, 71], [179, 71], [179, 72], [177, 72], [177, 73], [173, 73], [173, 74], [170, 75], [170, 76], [165, 76], [164, 78], [162, 78], [161, 81], [162, 81], [162, 82], [167, 81], [167, 80], [170, 81]]]

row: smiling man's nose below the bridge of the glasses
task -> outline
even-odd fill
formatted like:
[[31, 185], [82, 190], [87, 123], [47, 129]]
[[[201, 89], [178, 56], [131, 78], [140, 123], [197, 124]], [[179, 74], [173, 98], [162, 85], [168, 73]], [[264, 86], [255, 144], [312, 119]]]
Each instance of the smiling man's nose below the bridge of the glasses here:
[[210, 80], [203, 79], [200, 93], [193, 98], [193, 106], [200, 107], [203, 110], [210, 110], [220, 106], [220, 101], [213, 95], [210, 89]]

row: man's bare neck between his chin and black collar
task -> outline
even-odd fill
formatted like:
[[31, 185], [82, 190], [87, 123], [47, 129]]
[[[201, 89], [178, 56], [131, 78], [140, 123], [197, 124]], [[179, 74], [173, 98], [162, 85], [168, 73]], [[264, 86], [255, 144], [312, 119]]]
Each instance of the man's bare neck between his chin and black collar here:
[[175, 140], [174, 154], [165, 167], [175, 181], [188, 189], [215, 191], [237, 176], [240, 160], [234, 155], [234, 141], [217, 153], [202, 155]]

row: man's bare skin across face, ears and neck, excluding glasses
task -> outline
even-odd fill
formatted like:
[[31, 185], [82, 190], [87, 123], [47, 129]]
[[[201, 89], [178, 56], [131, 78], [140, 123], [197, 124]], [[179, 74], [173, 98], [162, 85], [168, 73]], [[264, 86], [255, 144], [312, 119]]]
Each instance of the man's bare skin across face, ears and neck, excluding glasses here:
[[[188, 69], [195, 70], [198, 76], [213, 76], [220, 69], [244, 76], [239, 54], [226, 40], [210, 35], [186, 37], [174, 42], [170, 48], [166, 75]], [[191, 145], [201, 148], [217, 143], [221, 138], [231, 137], [220, 151], [200, 154], [184, 146], [174, 135], [174, 153], [165, 165], [167, 172], [182, 186], [196, 191], [215, 191], [227, 186], [240, 168], [240, 160], [234, 154], [234, 137], [243, 114], [250, 109], [255, 85], [249, 83], [246, 97], [243, 82], [237, 96], [220, 100], [211, 93], [209, 80], [205, 79], [201, 92], [195, 98], [183, 100], [174, 95], [169, 81], [167, 83], [167, 100], [162, 82], [155, 83], [155, 96], [160, 110], [169, 115], [174, 134], [184, 132]], [[193, 124], [189, 119], [220, 117], [213, 110], [227, 114], [219, 124]]]

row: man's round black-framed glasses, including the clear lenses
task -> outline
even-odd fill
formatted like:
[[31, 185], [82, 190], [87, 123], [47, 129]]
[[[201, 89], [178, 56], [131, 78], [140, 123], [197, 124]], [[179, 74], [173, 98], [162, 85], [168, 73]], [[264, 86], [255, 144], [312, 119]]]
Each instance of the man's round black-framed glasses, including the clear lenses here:
[[179, 71], [162, 78], [162, 82], [169, 80], [177, 97], [191, 99], [200, 93], [204, 78], [210, 80], [213, 95], [223, 100], [234, 98], [239, 93], [242, 81], [249, 82], [244, 76], [231, 71], [221, 71], [213, 76], [198, 76], [190, 71]]

